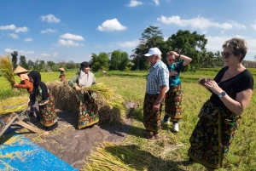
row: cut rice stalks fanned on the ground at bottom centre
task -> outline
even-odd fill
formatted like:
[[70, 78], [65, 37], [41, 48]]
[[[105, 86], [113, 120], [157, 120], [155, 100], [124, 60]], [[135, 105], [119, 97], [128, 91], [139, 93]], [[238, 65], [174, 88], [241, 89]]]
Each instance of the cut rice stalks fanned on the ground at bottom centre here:
[[89, 170], [145, 170], [150, 165], [150, 157], [128, 146], [114, 145], [104, 142], [102, 146], [93, 147], [90, 157], [84, 166], [84, 171]]

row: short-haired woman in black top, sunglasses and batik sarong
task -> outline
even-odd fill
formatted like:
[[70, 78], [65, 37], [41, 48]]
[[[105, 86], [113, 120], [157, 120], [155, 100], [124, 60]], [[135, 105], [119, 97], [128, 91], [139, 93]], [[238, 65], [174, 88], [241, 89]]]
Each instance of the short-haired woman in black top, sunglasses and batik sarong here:
[[241, 38], [227, 40], [222, 48], [224, 68], [214, 79], [200, 78], [198, 83], [212, 91], [202, 106], [198, 123], [189, 139], [189, 160], [207, 170], [222, 168], [223, 159], [253, 94], [253, 76], [242, 66], [247, 43]]

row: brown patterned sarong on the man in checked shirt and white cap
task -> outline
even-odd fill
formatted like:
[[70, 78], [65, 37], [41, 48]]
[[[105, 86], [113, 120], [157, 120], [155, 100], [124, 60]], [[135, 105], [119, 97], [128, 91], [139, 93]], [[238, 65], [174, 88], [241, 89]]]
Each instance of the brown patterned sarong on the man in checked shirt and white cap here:
[[153, 105], [159, 94], [145, 94], [143, 105], [143, 124], [148, 131], [159, 133], [161, 128], [161, 111], [162, 103], [159, 111], [153, 111]]

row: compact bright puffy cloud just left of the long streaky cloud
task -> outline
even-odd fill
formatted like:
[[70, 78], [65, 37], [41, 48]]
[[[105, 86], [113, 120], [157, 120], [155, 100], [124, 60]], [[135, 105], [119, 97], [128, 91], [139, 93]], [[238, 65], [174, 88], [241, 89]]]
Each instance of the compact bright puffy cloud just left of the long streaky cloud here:
[[118, 20], [106, 20], [102, 23], [102, 26], [98, 26], [98, 31], [123, 31], [127, 29], [126, 26], [122, 26]]

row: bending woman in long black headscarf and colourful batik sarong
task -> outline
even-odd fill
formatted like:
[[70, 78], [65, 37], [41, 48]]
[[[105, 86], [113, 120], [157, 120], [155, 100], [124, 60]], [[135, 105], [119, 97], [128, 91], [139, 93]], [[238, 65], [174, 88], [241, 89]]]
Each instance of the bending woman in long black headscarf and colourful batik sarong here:
[[38, 71], [29, 72], [28, 77], [33, 83], [33, 91], [28, 103], [31, 108], [30, 116], [35, 113], [46, 131], [53, 130], [58, 126], [54, 97], [50, 94], [45, 83], [41, 81], [41, 75]]

